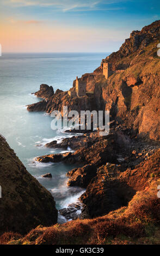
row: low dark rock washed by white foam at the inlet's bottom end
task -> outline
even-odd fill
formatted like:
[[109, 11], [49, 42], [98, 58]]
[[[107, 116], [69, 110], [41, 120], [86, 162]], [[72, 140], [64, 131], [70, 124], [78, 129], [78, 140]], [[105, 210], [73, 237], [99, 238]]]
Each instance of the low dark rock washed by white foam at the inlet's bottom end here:
[[66, 218], [66, 220], [76, 220], [81, 216], [81, 209], [83, 204], [81, 202], [76, 202], [69, 204], [67, 208], [60, 209], [59, 213]]

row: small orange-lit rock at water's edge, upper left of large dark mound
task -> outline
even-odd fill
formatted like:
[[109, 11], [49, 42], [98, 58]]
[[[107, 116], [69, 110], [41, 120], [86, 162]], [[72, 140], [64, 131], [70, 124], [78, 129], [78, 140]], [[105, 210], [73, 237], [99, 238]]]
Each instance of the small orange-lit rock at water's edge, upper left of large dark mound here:
[[69, 177], [68, 186], [87, 187], [89, 182], [96, 176], [97, 168], [94, 164], [70, 170], [66, 175]]

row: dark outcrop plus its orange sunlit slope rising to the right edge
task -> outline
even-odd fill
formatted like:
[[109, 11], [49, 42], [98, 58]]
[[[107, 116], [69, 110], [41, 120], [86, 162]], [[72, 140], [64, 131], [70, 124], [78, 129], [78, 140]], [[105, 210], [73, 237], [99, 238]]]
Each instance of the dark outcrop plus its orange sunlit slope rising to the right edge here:
[[134, 169], [122, 172], [116, 164], [101, 166], [80, 198], [85, 204], [82, 218], [102, 216], [127, 205], [137, 191], [147, 190], [153, 179], [159, 178], [159, 161], [160, 149], [157, 149]]

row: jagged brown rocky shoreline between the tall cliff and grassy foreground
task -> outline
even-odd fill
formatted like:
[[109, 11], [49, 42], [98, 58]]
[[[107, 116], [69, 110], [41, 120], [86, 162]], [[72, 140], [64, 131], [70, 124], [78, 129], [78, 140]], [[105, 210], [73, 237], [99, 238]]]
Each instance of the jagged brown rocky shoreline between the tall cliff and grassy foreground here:
[[[106, 161], [104, 166], [102, 165], [102, 163], [105, 162], [103, 162], [103, 156], [100, 159], [98, 157], [100, 151], [98, 146], [100, 146], [100, 142], [103, 142], [101, 150], [104, 150], [107, 145], [107, 150], [104, 151]], [[112, 143], [114, 144], [114, 148], [111, 147]], [[93, 147], [93, 145], [95, 146]], [[77, 150], [74, 153], [40, 156], [36, 158], [36, 161], [81, 162], [84, 164], [83, 167], [72, 169], [66, 173], [66, 176], [69, 177], [67, 182], [68, 186], [83, 187], [86, 189], [86, 192], [79, 198], [80, 201], [78, 203], [59, 210], [59, 213], [63, 215], [66, 220], [76, 220], [76, 218], [102, 216], [121, 206], [126, 206], [136, 193], [136, 190], [128, 186], [124, 181], [120, 181], [119, 175], [128, 172], [129, 169], [134, 169], [141, 162], [148, 160], [160, 149], [160, 143], [145, 142], [135, 138], [131, 139], [128, 137], [127, 132], [115, 132], [115, 130], [113, 130], [113, 133], [104, 138], [99, 136], [99, 132], [91, 132], [65, 138], [58, 144], [53, 141], [47, 143], [46, 147], [62, 149], [70, 147], [71, 149]], [[85, 151], [85, 149], [87, 150]], [[110, 154], [110, 152], [112, 152], [111, 158], [106, 155]], [[96, 160], [94, 160], [93, 157], [89, 157], [90, 154], [96, 155]], [[110, 181], [109, 178], [112, 181]], [[112, 191], [112, 196], [110, 195], [110, 191]], [[98, 197], [96, 196], [97, 193], [99, 194]], [[119, 198], [117, 198], [115, 194], [119, 194]], [[93, 203], [91, 203], [92, 201]], [[113, 203], [111, 203], [112, 201]], [[88, 205], [88, 202], [91, 205]], [[79, 208], [77, 204], [81, 204], [81, 208]]]

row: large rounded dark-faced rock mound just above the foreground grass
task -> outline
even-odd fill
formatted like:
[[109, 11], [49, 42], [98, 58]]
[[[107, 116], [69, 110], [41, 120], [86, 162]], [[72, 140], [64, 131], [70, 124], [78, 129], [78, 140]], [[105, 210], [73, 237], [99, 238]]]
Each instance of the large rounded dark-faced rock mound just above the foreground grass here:
[[106, 164], [97, 169], [97, 175], [90, 181], [87, 190], [81, 196], [86, 205], [82, 217], [96, 217], [127, 205], [135, 191], [118, 179], [120, 173], [116, 164]]

